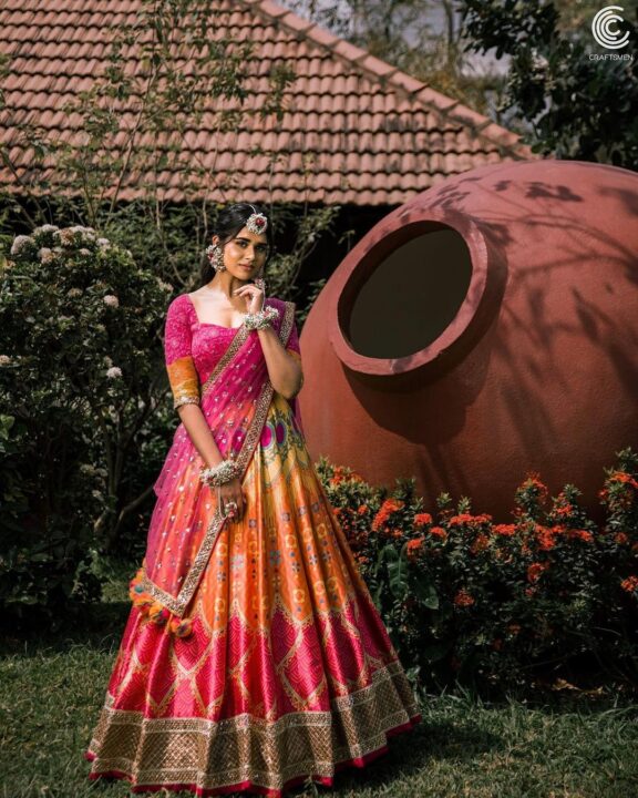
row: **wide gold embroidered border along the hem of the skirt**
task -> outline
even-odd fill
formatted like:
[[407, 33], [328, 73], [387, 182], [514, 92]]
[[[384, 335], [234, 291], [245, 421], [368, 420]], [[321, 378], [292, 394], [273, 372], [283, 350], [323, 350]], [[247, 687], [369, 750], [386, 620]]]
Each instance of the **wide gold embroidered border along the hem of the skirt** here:
[[92, 774], [117, 770], [134, 785], [188, 784], [202, 789], [250, 780], [268, 789], [310, 774], [332, 776], [336, 765], [387, 744], [385, 733], [419, 714], [397, 661], [372, 683], [330, 702], [331, 712], [298, 712], [275, 722], [238, 715], [146, 718], [113, 708], [107, 695], [89, 751]]

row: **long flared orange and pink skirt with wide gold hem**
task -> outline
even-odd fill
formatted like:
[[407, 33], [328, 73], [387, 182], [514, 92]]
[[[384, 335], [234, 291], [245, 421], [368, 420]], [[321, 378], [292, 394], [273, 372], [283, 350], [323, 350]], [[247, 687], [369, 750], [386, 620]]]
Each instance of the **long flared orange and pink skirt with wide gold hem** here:
[[281, 796], [421, 716], [286, 399], [275, 393], [179, 637], [133, 606], [85, 751], [135, 792]]

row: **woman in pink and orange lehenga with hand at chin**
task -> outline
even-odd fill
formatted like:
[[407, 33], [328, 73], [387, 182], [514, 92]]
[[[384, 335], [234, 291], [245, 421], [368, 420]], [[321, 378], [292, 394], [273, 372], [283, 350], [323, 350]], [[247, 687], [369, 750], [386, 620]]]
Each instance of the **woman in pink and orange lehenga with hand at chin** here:
[[420, 714], [306, 449], [266, 215], [230, 206], [207, 252], [214, 276], [167, 311], [182, 423], [85, 756], [134, 791], [280, 796], [363, 766]]

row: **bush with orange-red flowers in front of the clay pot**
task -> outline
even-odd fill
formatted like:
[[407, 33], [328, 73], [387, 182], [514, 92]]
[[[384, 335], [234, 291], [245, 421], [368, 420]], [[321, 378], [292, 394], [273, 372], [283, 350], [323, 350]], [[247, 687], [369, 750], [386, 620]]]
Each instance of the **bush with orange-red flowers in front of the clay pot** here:
[[638, 454], [617, 452], [597, 525], [566, 484], [549, 497], [536, 472], [513, 522], [441, 493], [424, 511], [414, 481], [389, 494], [325, 459], [318, 471], [407, 667], [423, 688], [459, 681], [504, 688], [593, 666], [638, 671]]

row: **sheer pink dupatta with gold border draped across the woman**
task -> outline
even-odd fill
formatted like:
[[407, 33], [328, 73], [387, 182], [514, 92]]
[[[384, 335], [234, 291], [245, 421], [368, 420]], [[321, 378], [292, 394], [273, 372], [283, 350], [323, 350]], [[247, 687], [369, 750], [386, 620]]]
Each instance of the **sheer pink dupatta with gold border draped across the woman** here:
[[[295, 321], [294, 303], [268, 299], [279, 310], [274, 327], [286, 347]], [[246, 472], [255, 452], [274, 388], [259, 336], [244, 325], [200, 389], [200, 408], [222, 456], [235, 459]], [[295, 421], [301, 429], [296, 400]], [[157, 502], [151, 519], [142, 587], [182, 617], [210, 557], [225, 523], [216, 491], [199, 481], [202, 458], [184, 424], [173, 444], [154, 490]], [[241, 478], [240, 478], [241, 479]]]

